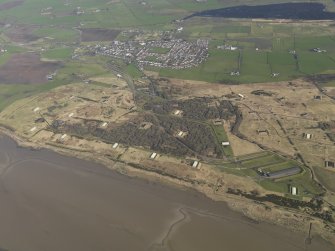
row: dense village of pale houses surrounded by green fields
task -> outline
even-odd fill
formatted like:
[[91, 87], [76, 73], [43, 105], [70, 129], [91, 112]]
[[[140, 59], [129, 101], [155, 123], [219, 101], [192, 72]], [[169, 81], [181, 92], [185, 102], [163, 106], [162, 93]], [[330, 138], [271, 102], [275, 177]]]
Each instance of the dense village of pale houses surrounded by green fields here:
[[141, 69], [145, 66], [184, 69], [197, 66], [208, 57], [208, 40], [113, 41], [109, 45], [89, 45], [85, 49], [135, 62]]

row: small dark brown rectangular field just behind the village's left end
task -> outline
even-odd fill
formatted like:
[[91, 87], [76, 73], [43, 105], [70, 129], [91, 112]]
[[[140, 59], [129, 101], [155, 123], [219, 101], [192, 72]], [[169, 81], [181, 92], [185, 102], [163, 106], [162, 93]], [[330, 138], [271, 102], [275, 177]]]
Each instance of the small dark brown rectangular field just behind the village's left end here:
[[120, 33], [119, 30], [108, 30], [108, 29], [81, 29], [81, 41], [92, 42], [92, 41], [111, 41], [114, 40]]

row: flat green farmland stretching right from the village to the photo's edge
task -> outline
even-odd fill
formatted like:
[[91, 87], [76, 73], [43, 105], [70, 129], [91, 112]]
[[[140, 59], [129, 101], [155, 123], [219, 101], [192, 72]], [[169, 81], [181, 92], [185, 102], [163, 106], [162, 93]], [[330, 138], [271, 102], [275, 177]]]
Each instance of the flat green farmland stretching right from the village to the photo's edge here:
[[[331, 35], [331, 25], [318, 28], [311, 23], [207, 21], [187, 21], [180, 36], [211, 38], [208, 60], [192, 69], [154, 70], [164, 77], [219, 83], [273, 82], [335, 73], [335, 36]], [[217, 49], [220, 45], [236, 46], [238, 50]], [[313, 48], [326, 51], [316, 53]], [[240, 75], [232, 76], [232, 71], [239, 71]], [[273, 77], [274, 73], [278, 74]]]

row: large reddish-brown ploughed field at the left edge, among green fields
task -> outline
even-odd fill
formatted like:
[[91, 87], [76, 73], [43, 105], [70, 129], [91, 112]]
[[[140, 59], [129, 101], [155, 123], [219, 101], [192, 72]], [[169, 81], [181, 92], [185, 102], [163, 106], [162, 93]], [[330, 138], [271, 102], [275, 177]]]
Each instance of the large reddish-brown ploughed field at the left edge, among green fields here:
[[36, 54], [16, 54], [0, 68], [0, 83], [41, 84], [46, 76], [60, 67], [59, 63], [42, 62]]

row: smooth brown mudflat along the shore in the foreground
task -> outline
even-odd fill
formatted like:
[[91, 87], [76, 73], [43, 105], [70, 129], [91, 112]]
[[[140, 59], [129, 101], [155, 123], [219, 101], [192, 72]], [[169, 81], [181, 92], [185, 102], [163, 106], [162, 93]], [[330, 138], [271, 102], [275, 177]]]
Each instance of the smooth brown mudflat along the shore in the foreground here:
[[[194, 191], [0, 137], [0, 250], [334, 250]], [[307, 231], [307, 230], [306, 230]]]

